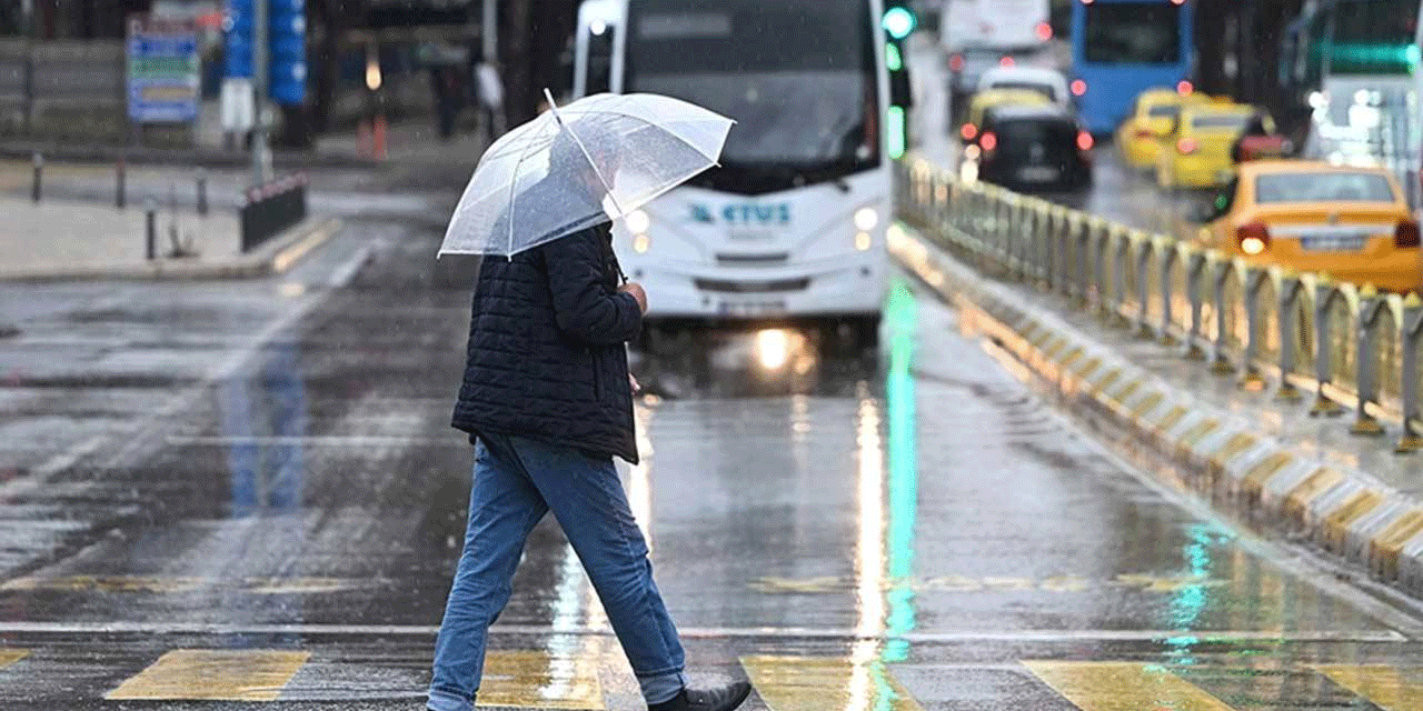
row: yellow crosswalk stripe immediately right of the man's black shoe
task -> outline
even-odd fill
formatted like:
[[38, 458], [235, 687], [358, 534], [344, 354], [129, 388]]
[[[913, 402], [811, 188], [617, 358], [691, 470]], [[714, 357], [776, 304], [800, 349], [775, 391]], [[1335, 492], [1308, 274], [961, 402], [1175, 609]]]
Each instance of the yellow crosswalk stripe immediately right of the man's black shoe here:
[[878, 660], [763, 656], [741, 657], [741, 667], [771, 711], [924, 711]]

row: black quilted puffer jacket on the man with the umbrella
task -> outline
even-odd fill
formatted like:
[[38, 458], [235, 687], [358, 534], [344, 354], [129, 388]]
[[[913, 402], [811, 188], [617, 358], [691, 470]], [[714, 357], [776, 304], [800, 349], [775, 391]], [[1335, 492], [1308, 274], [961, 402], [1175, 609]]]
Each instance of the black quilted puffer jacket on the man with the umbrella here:
[[454, 427], [636, 464], [625, 343], [640, 328], [636, 299], [618, 293], [608, 223], [485, 257]]

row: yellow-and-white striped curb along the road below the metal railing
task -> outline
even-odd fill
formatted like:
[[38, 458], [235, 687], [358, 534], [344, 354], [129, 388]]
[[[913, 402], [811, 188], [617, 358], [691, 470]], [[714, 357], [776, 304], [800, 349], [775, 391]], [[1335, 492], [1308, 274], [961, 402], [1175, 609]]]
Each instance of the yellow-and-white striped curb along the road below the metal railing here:
[[1245, 417], [1197, 401], [1054, 314], [1033, 310], [909, 228], [891, 230], [889, 252], [1072, 407], [1104, 417], [1175, 464], [1177, 471], [1147, 468], [1168, 486], [1423, 594], [1423, 499], [1363, 471], [1298, 456]]

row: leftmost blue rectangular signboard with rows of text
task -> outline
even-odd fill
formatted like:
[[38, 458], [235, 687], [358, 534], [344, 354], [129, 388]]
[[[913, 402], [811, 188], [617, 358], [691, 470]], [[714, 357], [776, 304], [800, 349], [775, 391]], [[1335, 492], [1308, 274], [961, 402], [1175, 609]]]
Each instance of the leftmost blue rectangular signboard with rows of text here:
[[138, 124], [198, 119], [198, 30], [191, 23], [128, 23], [128, 115]]

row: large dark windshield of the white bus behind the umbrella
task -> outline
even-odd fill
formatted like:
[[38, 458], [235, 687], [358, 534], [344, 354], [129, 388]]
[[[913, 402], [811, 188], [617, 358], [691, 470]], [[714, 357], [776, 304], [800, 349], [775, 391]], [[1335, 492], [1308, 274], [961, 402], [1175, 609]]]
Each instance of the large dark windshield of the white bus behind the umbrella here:
[[628, 11], [625, 90], [736, 119], [729, 171], [807, 183], [878, 164], [867, 0], [633, 0]]

